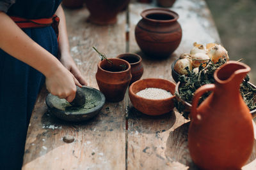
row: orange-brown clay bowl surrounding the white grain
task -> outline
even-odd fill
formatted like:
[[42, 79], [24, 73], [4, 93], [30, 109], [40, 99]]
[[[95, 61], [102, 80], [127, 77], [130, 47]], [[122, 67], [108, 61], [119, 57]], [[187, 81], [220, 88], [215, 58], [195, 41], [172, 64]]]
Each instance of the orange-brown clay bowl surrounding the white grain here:
[[[172, 97], [166, 99], [146, 99], [136, 95], [137, 92], [146, 88], [158, 88], [171, 92]], [[129, 87], [129, 97], [134, 108], [145, 113], [146, 115], [163, 115], [173, 110], [173, 99], [175, 93], [175, 83], [160, 78], [147, 78], [132, 83]]]

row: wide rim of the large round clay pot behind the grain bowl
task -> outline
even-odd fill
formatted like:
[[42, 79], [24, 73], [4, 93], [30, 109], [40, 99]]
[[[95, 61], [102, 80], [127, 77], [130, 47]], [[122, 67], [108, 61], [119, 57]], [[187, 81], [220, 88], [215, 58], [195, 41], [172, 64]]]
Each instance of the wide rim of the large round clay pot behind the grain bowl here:
[[[161, 13], [161, 14], [171, 15], [173, 17], [173, 19], [171, 19], [171, 20], [154, 20], [154, 19], [151, 19], [151, 18], [147, 18], [147, 15], [154, 14], [154, 13], [158, 13], [158, 14]], [[166, 8], [150, 8], [150, 9], [147, 9], [147, 10], [143, 10], [140, 13], [140, 15], [145, 20], [152, 21], [152, 22], [164, 22], [164, 23], [166, 23], [166, 22], [175, 22], [179, 18], [178, 13], [176, 13], [175, 11], [166, 9]]]

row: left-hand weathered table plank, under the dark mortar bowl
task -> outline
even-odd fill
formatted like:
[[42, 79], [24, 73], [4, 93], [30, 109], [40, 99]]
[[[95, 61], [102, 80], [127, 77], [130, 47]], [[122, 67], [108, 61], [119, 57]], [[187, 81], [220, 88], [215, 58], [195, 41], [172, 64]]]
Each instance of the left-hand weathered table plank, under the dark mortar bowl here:
[[[125, 13], [115, 25], [98, 26], [86, 22], [85, 8], [65, 12], [72, 57], [88, 84], [98, 89], [100, 59], [92, 46], [109, 57], [124, 53]], [[125, 169], [125, 101], [107, 103], [87, 122], [67, 123], [49, 114], [45, 94], [40, 94], [31, 117], [22, 169]], [[74, 136], [73, 143], [62, 141], [67, 134]]]

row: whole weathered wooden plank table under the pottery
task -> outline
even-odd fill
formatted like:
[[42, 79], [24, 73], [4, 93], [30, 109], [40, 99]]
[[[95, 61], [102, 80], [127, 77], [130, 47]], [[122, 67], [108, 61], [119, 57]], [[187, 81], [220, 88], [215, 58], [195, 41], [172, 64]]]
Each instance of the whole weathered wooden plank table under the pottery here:
[[[96, 46], [108, 57], [125, 52], [143, 57], [142, 78], [172, 80], [171, 64], [193, 43], [220, 43], [220, 37], [203, 0], [178, 0], [172, 10], [179, 13], [182, 41], [166, 60], [145, 57], [134, 38], [141, 11], [154, 4], [131, 3], [129, 12], [118, 15], [115, 25], [98, 26], [86, 22], [88, 10], [65, 10], [72, 57], [88, 81], [95, 80], [99, 57]], [[129, 39], [125, 34], [129, 32]], [[129, 40], [129, 41], [128, 41]], [[100, 114], [87, 122], [67, 123], [52, 117], [45, 105], [46, 90], [40, 92], [29, 124], [22, 169], [196, 169], [188, 150], [188, 120], [173, 111], [160, 117], [141, 114], [129, 101], [106, 103]], [[65, 135], [75, 138], [64, 143]], [[246, 167], [256, 169], [256, 146]]]

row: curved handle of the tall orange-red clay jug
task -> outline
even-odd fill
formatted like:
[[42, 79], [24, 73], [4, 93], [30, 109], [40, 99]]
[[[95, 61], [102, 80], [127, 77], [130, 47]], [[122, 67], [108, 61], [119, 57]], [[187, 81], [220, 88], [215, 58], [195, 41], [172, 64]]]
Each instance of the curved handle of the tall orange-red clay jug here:
[[193, 101], [192, 101], [192, 107], [191, 107], [191, 118], [193, 118], [194, 120], [196, 119], [198, 112], [197, 112], [197, 104], [199, 101], [199, 98], [207, 91], [213, 91], [215, 89], [215, 85], [214, 84], [207, 84], [207, 85], [203, 85], [202, 87], [199, 87], [196, 92], [195, 95], [193, 97]]

